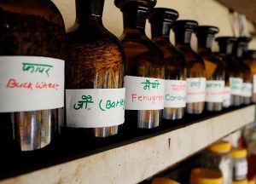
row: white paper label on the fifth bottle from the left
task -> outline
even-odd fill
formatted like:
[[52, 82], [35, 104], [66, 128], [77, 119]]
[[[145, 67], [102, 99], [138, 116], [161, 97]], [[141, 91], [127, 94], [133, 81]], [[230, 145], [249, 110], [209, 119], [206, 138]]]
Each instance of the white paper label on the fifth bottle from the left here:
[[187, 103], [206, 101], [206, 78], [187, 78]]

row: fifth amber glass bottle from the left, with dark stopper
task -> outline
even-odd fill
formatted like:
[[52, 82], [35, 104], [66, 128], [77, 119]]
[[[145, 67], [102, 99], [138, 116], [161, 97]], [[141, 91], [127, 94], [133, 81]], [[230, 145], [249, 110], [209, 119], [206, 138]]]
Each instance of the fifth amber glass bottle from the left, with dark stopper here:
[[174, 23], [175, 44], [183, 52], [187, 62], [187, 106], [190, 114], [204, 110], [206, 90], [206, 67], [200, 55], [190, 47], [191, 35], [198, 26], [194, 20], [177, 20]]

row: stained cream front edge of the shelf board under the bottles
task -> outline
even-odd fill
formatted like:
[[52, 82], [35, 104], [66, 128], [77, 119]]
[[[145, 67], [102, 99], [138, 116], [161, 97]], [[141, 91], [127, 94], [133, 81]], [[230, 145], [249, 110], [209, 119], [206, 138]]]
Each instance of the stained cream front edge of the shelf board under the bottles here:
[[28, 183], [137, 183], [166, 170], [214, 141], [252, 123], [255, 106], [0, 181]]

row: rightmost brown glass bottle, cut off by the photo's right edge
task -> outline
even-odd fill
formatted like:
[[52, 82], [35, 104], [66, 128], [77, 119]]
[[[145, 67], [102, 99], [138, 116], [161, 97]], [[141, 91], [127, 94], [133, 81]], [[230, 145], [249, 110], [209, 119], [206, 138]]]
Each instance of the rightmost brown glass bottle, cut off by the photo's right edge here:
[[253, 75], [253, 103], [256, 102], [256, 50], [247, 50], [243, 56], [244, 62], [250, 67]]

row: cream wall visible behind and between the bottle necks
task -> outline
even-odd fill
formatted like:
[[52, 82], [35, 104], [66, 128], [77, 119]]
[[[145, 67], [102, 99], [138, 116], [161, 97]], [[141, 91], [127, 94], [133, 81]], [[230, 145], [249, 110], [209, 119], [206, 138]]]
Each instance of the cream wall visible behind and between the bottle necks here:
[[[60, 9], [64, 18], [66, 28], [73, 25], [75, 20], [75, 1], [74, 0], [52, 0]], [[86, 0], [84, 0], [86, 1]], [[180, 14], [179, 19], [197, 20], [200, 25], [218, 26], [219, 36], [233, 36], [232, 26], [230, 23], [230, 12], [224, 5], [215, 0], [158, 0], [156, 7], [166, 7], [176, 9]], [[119, 37], [123, 30], [122, 14], [117, 9], [113, 0], [105, 0], [103, 12], [103, 24], [106, 28]], [[253, 30], [253, 26], [248, 22], [249, 30]], [[150, 26], [147, 22], [146, 32], [150, 37]], [[171, 41], [174, 43], [173, 33]], [[192, 48], [196, 50], [196, 38], [192, 37]], [[217, 43], [213, 43], [214, 51], [218, 50]], [[249, 49], [256, 49], [256, 37], [249, 44]]]

